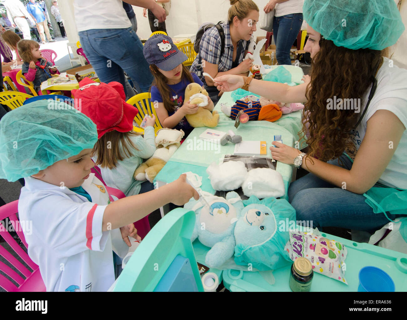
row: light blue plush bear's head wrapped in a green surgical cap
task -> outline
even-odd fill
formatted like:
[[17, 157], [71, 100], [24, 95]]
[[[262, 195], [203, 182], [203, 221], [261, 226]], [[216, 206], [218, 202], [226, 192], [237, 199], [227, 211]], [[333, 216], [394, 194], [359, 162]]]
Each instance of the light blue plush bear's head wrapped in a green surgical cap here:
[[287, 200], [251, 196], [243, 201], [244, 209], [234, 228], [234, 261], [252, 264], [258, 270], [278, 269], [291, 259], [284, 251], [289, 241], [288, 221], [295, 220], [295, 209]]

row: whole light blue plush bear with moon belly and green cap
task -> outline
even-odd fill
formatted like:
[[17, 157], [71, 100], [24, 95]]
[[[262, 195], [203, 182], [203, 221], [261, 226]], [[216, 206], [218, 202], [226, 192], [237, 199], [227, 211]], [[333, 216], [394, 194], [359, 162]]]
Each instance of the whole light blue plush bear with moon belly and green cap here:
[[184, 206], [197, 213], [191, 240], [199, 239], [210, 247], [205, 264], [218, 268], [233, 257], [236, 264], [258, 270], [277, 269], [291, 263], [285, 244], [289, 232], [280, 222], [295, 220], [295, 210], [286, 200], [251, 196], [242, 201], [236, 192], [228, 192], [226, 199], [205, 198], [210, 209], [191, 200]]

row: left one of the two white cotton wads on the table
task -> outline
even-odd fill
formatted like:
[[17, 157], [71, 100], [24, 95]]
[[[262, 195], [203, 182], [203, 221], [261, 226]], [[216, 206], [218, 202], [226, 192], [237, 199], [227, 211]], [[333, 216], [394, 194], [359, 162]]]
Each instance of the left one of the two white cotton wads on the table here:
[[227, 161], [221, 165], [212, 163], [206, 172], [212, 188], [219, 191], [238, 189], [247, 176], [247, 169], [242, 161]]

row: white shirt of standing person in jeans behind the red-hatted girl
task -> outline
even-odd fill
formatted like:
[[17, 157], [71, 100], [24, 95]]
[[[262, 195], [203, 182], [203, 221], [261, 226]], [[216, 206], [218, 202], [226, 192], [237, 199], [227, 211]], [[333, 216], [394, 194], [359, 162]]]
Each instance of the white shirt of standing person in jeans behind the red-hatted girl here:
[[120, 0], [75, 0], [74, 10], [78, 32], [131, 27]]

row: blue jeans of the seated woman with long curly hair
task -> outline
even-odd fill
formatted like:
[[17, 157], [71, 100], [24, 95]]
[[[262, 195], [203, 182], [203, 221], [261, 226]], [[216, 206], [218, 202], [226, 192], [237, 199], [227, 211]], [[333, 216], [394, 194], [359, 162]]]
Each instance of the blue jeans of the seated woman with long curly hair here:
[[[346, 155], [328, 163], [350, 170], [352, 161]], [[375, 187], [380, 187], [375, 185]], [[297, 213], [297, 220], [313, 221], [313, 228], [335, 226], [373, 233], [389, 220], [383, 213], [374, 213], [362, 194], [355, 194], [319, 179], [312, 173], [291, 183], [288, 189], [289, 202]], [[403, 215], [387, 216], [394, 220]]]

